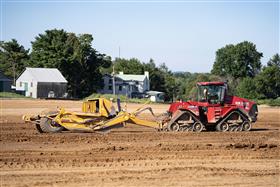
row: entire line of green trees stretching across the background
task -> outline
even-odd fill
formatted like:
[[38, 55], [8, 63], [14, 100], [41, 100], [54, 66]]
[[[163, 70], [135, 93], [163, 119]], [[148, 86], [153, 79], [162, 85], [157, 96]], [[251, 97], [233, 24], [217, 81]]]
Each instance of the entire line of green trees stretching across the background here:
[[46, 30], [31, 42], [31, 50], [17, 40], [0, 42], [0, 71], [15, 80], [25, 67], [58, 68], [68, 80], [68, 93], [83, 98], [103, 87], [102, 76], [115, 71], [126, 74], [150, 73], [150, 89], [165, 92], [166, 100], [195, 99], [196, 82], [227, 81], [230, 94], [248, 99], [280, 97], [280, 57], [275, 54], [262, 66], [263, 54], [256, 45], [244, 41], [216, 51], [211, 73], [172, 72], [153, 59], [111, 59], [92, 46], [91, 34]]

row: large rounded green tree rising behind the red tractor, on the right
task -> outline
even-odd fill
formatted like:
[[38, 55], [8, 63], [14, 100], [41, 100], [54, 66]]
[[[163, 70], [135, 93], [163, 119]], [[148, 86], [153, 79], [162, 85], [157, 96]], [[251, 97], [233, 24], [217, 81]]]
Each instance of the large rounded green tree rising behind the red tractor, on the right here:
[[262, 53], [257, 51], [256, 45], [248, 41], [226, 45], [216, 52], [211, 72], [214, 75], [231, 76], [234, 79], [255, 77], [261, 69], [262, 56]]

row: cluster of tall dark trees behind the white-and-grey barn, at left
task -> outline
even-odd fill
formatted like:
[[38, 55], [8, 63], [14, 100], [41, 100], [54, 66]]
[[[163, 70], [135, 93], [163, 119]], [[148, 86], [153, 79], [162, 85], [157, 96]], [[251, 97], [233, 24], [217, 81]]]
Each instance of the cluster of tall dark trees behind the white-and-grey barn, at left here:
[[13, 39], [0, 43], [0, 70], [15, 80], [25, 67], [58, 68], [68, 81], [68, 93], [83, 98], [101, 88], [100, 69], [111, 66], [111, 58], [92, 47], [90, 34], [47, 30], [31, 42], [32, 50]]

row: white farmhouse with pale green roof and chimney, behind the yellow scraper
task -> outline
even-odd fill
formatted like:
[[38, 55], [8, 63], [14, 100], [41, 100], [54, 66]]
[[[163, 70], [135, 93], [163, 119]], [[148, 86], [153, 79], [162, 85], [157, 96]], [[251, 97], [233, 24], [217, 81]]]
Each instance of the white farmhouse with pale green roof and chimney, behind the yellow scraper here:
[[[103, 77], [104, 87], [100, 90], [103, 94], [113, 93], [113, 77], [109, 74]], [[115, 75], [115, 93], [131, 97], [133, 93], [144, 93], [150, 90], [149, 72], [143, 75], [124, 74], [119, 72]]]

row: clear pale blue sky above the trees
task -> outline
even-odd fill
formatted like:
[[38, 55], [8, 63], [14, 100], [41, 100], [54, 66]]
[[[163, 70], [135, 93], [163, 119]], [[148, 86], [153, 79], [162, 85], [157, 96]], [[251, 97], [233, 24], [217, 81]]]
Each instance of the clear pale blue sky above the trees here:
[[210, 72], [217, 49], [244, 40], [279, 53], [279, 1], [14, 1], [1, 0], [1, 40], [31, 48], [47, 29], [90, 33], [93, 47], [172, 71]]

